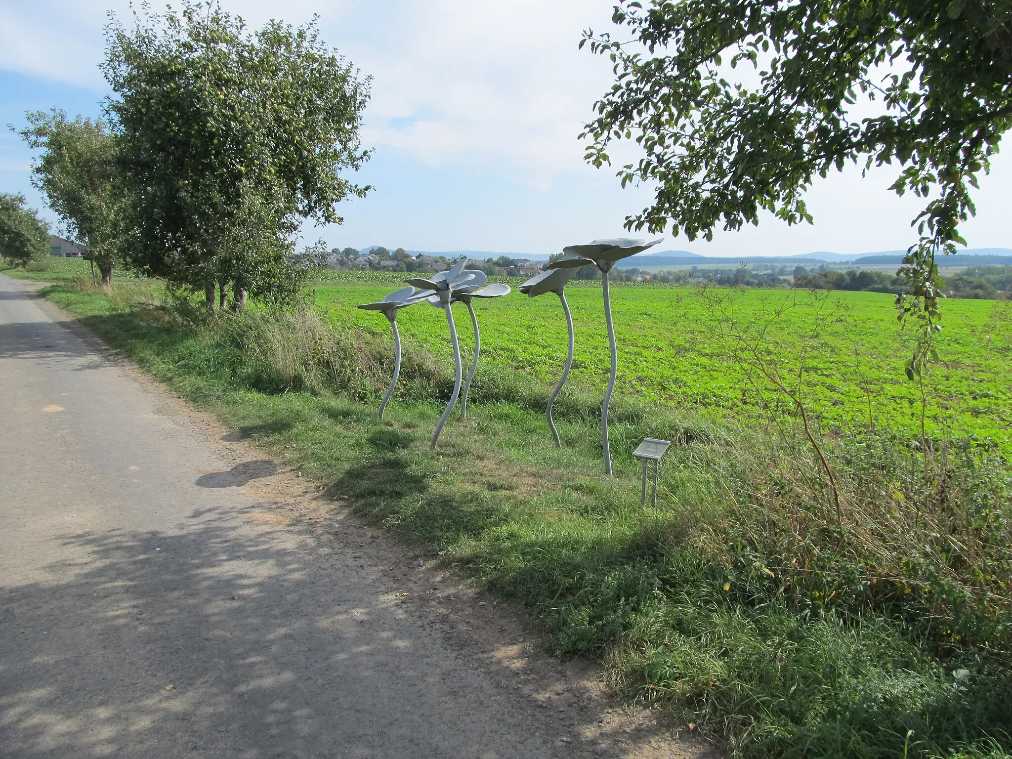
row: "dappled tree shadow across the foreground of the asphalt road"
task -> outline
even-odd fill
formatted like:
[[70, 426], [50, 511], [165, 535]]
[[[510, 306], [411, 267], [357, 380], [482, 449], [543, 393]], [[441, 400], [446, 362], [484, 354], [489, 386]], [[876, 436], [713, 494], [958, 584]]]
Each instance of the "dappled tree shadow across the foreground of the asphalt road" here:
[[518, 714], [474, 713], [502, 696], [375, 567], [246, 518], [68, 535], [80, 560], [0, 590], [4, 755], [546, 755]]

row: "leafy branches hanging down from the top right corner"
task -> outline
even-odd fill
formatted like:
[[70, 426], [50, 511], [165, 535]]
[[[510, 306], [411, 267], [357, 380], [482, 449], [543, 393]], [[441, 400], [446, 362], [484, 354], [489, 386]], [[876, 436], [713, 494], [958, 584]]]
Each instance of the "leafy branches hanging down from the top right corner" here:
[[[971, 189], [1012, 126], [1012, 0], [622, 0], [612, 19], [639, 46], [581, 40], [616, 75], [585, 135], [596, 166], [614, 140], [646, 152], [618, 175], [657, 197], [626, 226], [711, 239], [760, 210], [811, 222], [817, 175], [897, 161], [892, 189], [927, 201], [897, 298], [918, 334], [907, 371], [921, 375], [940, 319], [935, 256], [965, 244]], [[735, 79], [739, 65], [753, 71]], [[858, 100], [874, 111], [860, 121]]]

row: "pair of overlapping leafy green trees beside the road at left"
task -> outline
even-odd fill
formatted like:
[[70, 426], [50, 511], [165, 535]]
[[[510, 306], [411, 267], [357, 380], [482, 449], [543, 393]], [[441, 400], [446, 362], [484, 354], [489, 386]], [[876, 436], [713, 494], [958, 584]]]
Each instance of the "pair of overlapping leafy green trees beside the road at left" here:
[[40, 151], [33, 182], [102, 272], [125, 265], [209, 308], [230, 292], [284, 301], [306, 261], [306, 220], [340, 224], [361, 196], [343, 173], [368, 153], [358, 130], [368, 78], [320, 39], [315, 22], [249, 31], [217, 2], [135, 13], [106, 28], [106, 117], [27, 114]]

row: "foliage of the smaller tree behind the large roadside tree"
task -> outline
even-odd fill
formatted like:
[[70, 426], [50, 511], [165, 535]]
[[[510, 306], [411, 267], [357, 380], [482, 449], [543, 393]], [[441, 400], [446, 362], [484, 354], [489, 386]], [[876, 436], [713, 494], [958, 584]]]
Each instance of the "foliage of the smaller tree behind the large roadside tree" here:
[[118, 140], [101, 119], [73, 121], [56, 108], [27, 114], [30, 126], [18, 134], [43, 151], [32, 169], [32, 184], [43, 191], [78, 242], [95, 262], [108, 286], [113, 266], [130, 247], [128, 191], [118, 165]]

